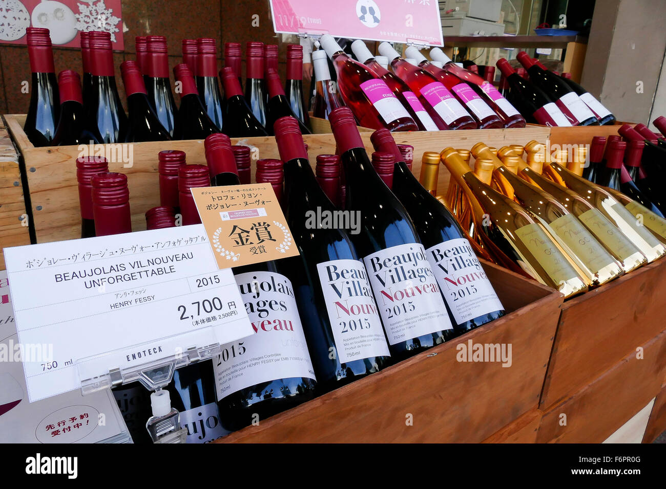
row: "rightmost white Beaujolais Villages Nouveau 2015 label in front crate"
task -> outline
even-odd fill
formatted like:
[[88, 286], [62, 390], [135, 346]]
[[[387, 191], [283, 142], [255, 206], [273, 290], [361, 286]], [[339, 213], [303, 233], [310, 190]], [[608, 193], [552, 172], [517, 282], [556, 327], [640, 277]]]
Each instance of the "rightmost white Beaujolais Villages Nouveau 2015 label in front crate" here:
[[504, 309], [468, 240], [449, 240], [426, 253], [456, 323]]

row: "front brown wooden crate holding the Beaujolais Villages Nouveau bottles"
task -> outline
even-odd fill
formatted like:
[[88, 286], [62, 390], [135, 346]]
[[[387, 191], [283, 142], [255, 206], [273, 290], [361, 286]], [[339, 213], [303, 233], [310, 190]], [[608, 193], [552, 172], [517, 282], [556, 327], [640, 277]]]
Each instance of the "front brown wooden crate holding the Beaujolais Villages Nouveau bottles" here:
[[[511, 311], [504, 317], [218, 441], [480, 442], [535, 409], [561, 295], [496, 265], [484, 269]], [[511, 367], [457, 361], [468, 341], [511, 343]]]

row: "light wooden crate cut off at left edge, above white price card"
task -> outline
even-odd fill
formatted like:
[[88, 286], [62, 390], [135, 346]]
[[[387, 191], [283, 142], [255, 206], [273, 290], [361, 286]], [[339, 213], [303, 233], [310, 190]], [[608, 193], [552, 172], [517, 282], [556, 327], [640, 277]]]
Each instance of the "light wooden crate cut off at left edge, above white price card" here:
[[[30, 244], [20, 166], [7, 129], [0, 128], [0, 250]], [[0, 253], [0, 270], [4, 269], [5, 255]]]

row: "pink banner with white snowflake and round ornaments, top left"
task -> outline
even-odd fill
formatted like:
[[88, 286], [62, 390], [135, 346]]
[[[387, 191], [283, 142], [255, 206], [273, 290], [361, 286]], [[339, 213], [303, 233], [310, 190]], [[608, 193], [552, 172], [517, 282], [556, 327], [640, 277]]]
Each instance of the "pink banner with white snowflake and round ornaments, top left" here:
[[59, 47], [81, 46], [79, 31], [108, 31], [122, 51], [121, 17], [121, 0], [0, 0], [0, 43], [27, 43], [27, 27], [49, 29]]

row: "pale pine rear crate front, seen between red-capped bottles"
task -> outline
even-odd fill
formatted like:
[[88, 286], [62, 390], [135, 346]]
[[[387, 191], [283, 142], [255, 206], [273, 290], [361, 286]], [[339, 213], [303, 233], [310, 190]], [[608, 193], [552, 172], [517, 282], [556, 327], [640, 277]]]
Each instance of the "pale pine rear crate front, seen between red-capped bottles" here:
[[[75, 170], [75, 159], [79, 156], [78, 146], [51, 146], [35, 148], [29, 142], [23, 124], [25, 115], [5, 116], [7, 126], [25, 160], [26, 176], [33, 212], [32, 223], [37, 243], [71, 240], [81, 236], [79, 214], [79, 194]], [[326, 121], [328, 124], [328, 121]], [[361, 132], [368, 152], [372, 152], [368, 130]], [[414, 166], [417, 176], [421, 170], [421, 155], [424, 151], [440, 152], [447, 146], [470, 148], [478, 141], [493, 146], [505, 144], [525, 144], [529, 140], [545, 140], [548, 128], [529, 127], [525, 129], [486, 129], [465, 131], [410, 132], [394, 133], [396, 141], [414, 146]], [[334, 153], [335, 140], [332, 134], [306, 134], [310, 163], [314, 166], [318, 154]], [[272, 136], [261, 138], [234, 138], [232, 144], [245, 144], [256, 148], [252, 152], [252, 178], [259, 158], [279, 158], [275, 139]], [[105, 148], [113, 145], [105, 145]], [[129, 179], [130, 208], [133, 230], [145, 230], [145, 212], [159, 205], [157, 185], [157, 154], [161, 150], [183, 150], [188, 163], [205, 163], [202, 140], [139, 142], [129, 143], [133, 152], [133, 166], [125, 168], [122, 161], [110, 161], [109, 170], [123, 172]], [[448, 188], [450, 175], [443, 169], [440, 172], [439, 189], [444, 194]]]

